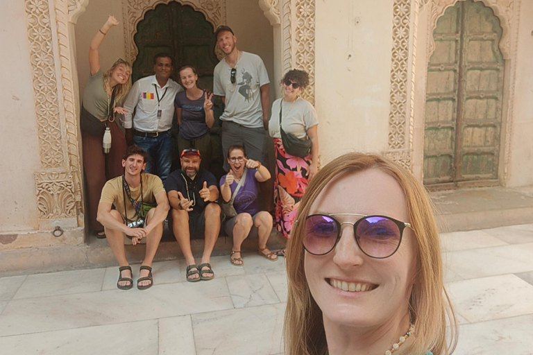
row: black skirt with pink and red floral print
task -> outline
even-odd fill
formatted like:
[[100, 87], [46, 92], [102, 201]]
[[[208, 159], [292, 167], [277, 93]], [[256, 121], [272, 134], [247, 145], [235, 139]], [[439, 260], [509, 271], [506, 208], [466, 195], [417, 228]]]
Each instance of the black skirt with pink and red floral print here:
[[307, 189], [311, 155], [294, 157], [283, 148], [281, 139], [274, 138], [276, 152], [276, 179], [274, 180], [274, 205], [276, 230], [289, 238], [300, 200]]

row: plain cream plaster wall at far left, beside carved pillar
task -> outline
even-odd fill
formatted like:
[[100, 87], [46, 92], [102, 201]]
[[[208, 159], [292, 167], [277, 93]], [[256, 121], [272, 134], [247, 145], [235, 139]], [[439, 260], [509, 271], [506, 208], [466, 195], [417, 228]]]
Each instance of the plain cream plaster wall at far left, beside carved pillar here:
[[0, 43], [0, 232], [37, 230], [40, 155], [24, 1], [2, 2]]

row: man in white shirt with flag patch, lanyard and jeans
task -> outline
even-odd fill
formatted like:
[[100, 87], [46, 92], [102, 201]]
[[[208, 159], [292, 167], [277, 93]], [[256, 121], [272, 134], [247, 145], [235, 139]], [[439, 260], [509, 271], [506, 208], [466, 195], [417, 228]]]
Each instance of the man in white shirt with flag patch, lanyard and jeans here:
[[136, 144], [149, 155], [146, 173], [155, 174], [157, 171], [164, 183], [172, 164], [170, 129], [174, 118], [174, 98], [183, 88], [170, 78], [172, 58], [169, 54], [156, 54], [153, 64], [155, 75], [137, 80], [124, 102], [127, 110], [124, 128], [128, 145]]

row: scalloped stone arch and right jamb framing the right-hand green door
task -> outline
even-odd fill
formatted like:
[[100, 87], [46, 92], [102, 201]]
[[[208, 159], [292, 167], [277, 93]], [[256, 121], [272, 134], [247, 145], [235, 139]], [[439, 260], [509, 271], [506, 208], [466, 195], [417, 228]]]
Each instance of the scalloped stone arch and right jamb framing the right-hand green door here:
[[[437, 26], [437, 20], [447, 8], [454, 6], [457, 1], [464, 0], [423, 0], [420, 8], [423, 8], [429, 3], [431, 6], [429, 10], [428, 19], [428, 46], [425, 60], [425, 67], [427, 68], [430, 57], [435, 49], [433, 40], [433, 30]], [[505, 125], [505, 146], [503, 157], [503, 180], [509, 180], [509, 164], [511, 163], [511, 137], [513, 134], [514, 121], [514, 95], [516, 84], [516, 55], [518, 51], [518, 30], [520, 19], [520, 0], [474, 0], [482, 1], [485, 6], [491, 8], [494, 15], [500, 19], [500, 26], [502, 26], [502, 38], [500, 40], [500, 51], [502, 51], [503, 58], [509, 60], [510, 78], [509, 78], [509, 92], [507, 100], [507, 123]], [[507, 65], [507, 64], [506, 64]], [[426, 73], [427, 80], [427, 73]], [[424, 91], [425, 94], [425, 91]]]

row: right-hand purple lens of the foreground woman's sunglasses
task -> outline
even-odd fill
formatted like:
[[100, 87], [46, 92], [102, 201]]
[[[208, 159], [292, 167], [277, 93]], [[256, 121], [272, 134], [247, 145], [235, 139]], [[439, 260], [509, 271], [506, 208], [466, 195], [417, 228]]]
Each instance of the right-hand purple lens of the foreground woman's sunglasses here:
[[400, 227], [393, 220], [369, 216], [357, 225], [355, 236], [359, 248], [369, 257], [390, 257], [400, 245]]

